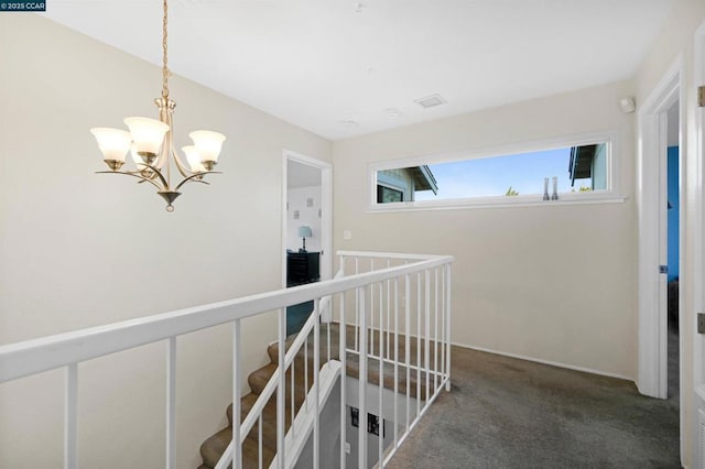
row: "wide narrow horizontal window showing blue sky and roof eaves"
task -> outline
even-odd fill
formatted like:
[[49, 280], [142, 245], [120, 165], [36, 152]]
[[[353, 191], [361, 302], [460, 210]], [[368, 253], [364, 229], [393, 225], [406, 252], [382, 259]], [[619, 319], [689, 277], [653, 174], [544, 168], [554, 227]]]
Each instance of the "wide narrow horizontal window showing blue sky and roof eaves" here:
[[[618, 201], [609, 137], [371, 166], [372, 209]], [[553, 143], [553, 144], [552, 144]]]

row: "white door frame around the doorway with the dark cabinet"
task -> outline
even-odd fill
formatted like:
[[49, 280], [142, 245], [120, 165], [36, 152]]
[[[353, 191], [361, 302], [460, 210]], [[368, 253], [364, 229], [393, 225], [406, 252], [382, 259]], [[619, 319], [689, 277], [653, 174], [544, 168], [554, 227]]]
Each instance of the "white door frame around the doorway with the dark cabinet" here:
[[[321, 170], [321, 279], [330, 279], [333, 271], [333, 165], [328, 162], [284, 150], [282, 167], [282, 255], [286, 252], [288, 165], [296, 162]], [[282, 263], [282, 288], [286, 287], [286, 262]]]

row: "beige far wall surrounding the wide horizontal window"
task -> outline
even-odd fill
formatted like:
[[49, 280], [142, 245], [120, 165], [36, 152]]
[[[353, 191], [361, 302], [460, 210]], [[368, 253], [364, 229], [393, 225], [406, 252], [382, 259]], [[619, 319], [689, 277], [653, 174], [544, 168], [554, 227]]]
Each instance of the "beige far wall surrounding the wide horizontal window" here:
[[[336, 248], [453, 254], [454, 342], [633, 379], [631, 95], [623, 81], [334, 143]], [[366, 211], [370, 163], [598, 131], [617, 134], [625, 203]]]

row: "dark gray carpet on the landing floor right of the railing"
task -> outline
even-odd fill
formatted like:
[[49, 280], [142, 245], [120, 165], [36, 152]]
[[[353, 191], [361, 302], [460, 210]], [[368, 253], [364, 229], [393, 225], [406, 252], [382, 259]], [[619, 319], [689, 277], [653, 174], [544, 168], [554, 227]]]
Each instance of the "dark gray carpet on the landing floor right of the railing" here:
[[390, 468], [679, 468], [677, 399], [453, 348], [443, 392]]

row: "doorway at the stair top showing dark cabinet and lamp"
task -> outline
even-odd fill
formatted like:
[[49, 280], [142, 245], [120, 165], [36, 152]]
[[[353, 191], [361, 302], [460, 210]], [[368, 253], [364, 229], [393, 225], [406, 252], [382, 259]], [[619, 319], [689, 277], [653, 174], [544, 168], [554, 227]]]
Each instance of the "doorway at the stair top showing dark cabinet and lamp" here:
[[[282, 286], [330, 279], [333, 189], [329, 163], [284, 151]], [[313, 302], [286, 308], [286, 336], [299, 332]]]

